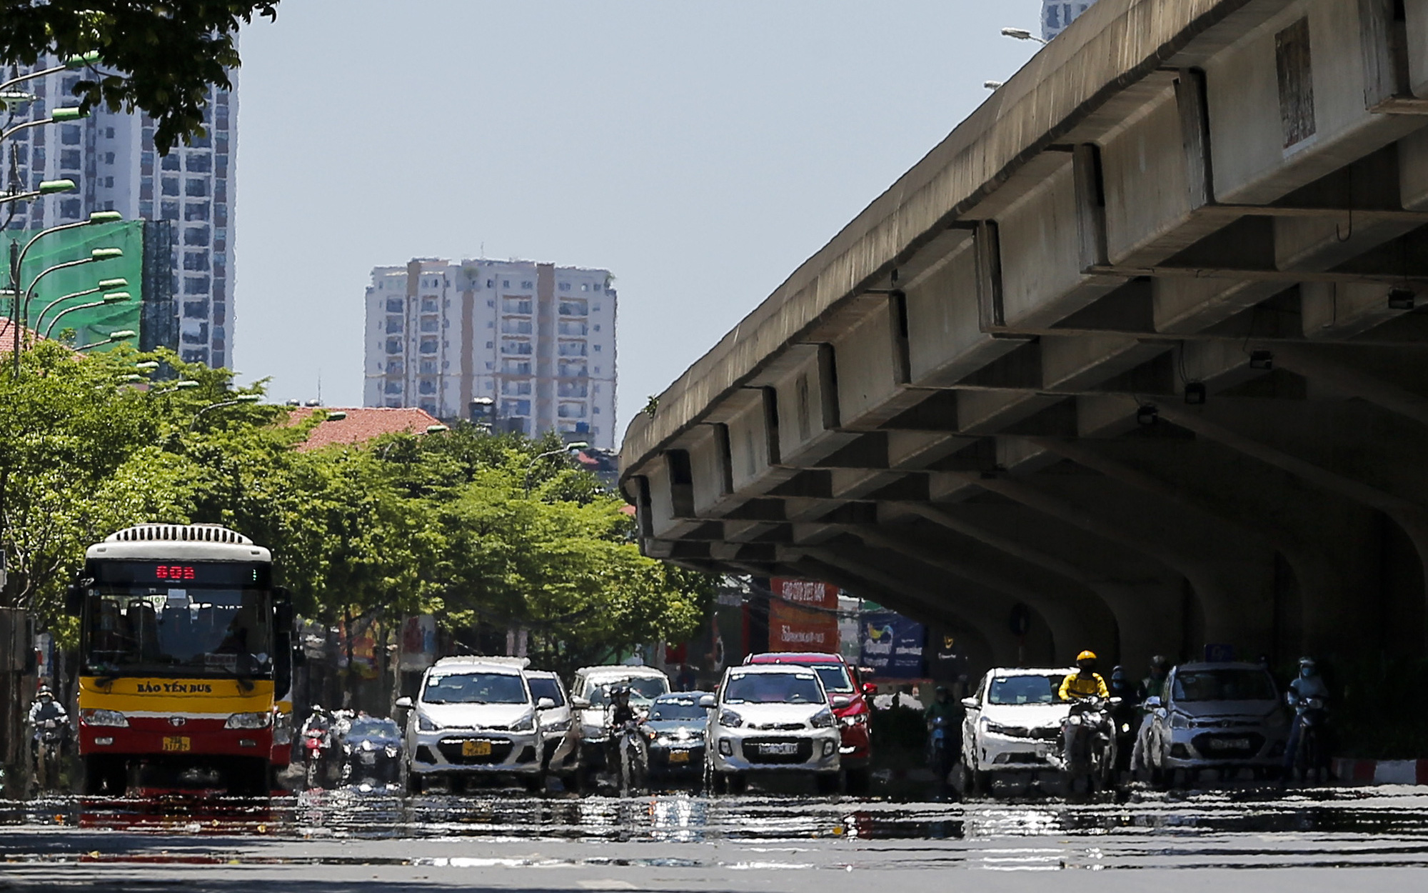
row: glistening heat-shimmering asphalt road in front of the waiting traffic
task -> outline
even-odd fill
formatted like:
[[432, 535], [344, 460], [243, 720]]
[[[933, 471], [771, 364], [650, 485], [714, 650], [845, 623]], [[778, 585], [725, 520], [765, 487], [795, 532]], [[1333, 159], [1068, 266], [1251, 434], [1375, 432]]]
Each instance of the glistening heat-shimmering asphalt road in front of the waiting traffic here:
[[1428, 790], [0, 803], [0, 890], [1428, 890]]

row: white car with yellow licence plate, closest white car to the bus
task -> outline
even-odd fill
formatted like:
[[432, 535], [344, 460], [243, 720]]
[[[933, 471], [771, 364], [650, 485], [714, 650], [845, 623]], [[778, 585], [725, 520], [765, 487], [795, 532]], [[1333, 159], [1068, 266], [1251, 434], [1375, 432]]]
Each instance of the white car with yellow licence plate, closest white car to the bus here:
[[407, 789], [471, 776], [516, 777], [544, 786], [544, 736], [537, 712], [554, 707], [531, 694], [524, 659], [443, 657], [426, 672], [407, 710]]

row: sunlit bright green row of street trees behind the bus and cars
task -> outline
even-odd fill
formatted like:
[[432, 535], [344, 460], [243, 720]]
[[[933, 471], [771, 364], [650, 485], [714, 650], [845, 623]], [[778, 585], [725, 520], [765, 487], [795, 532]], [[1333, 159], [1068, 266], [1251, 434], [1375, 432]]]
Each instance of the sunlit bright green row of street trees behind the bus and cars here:
[[[198, 384], [150, 381], [137, 363], [154, 360]], [[710, 579], [641, 556], [618, 499], [538, 459], [558, 440], [456, 426], [303, 452], [324, 413], [198, 414], [236, 393], [226, 370], [170, 351], [27, 350], [21, 374], [0, 377], [4, 603], [63, 633], [61, 593], [89, 544], [143, 522], [208, 522], [268, 546], [307, 617], [521, 627], [555, 667], [684, 639], [708, 610]]]

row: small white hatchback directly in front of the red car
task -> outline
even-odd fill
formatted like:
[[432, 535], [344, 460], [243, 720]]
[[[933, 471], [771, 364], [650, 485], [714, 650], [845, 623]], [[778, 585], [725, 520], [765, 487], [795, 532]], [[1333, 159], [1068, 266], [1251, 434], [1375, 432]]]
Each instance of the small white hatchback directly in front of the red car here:
[[724, 672], [710, 709], [704, 767], [710, 786], [737, 792], [750, 774], [811, 774], [820, 793], [838, 789], [841, 766], [838, 717], [847, 694], [831, 700], [813, 667], [745, 664]]

